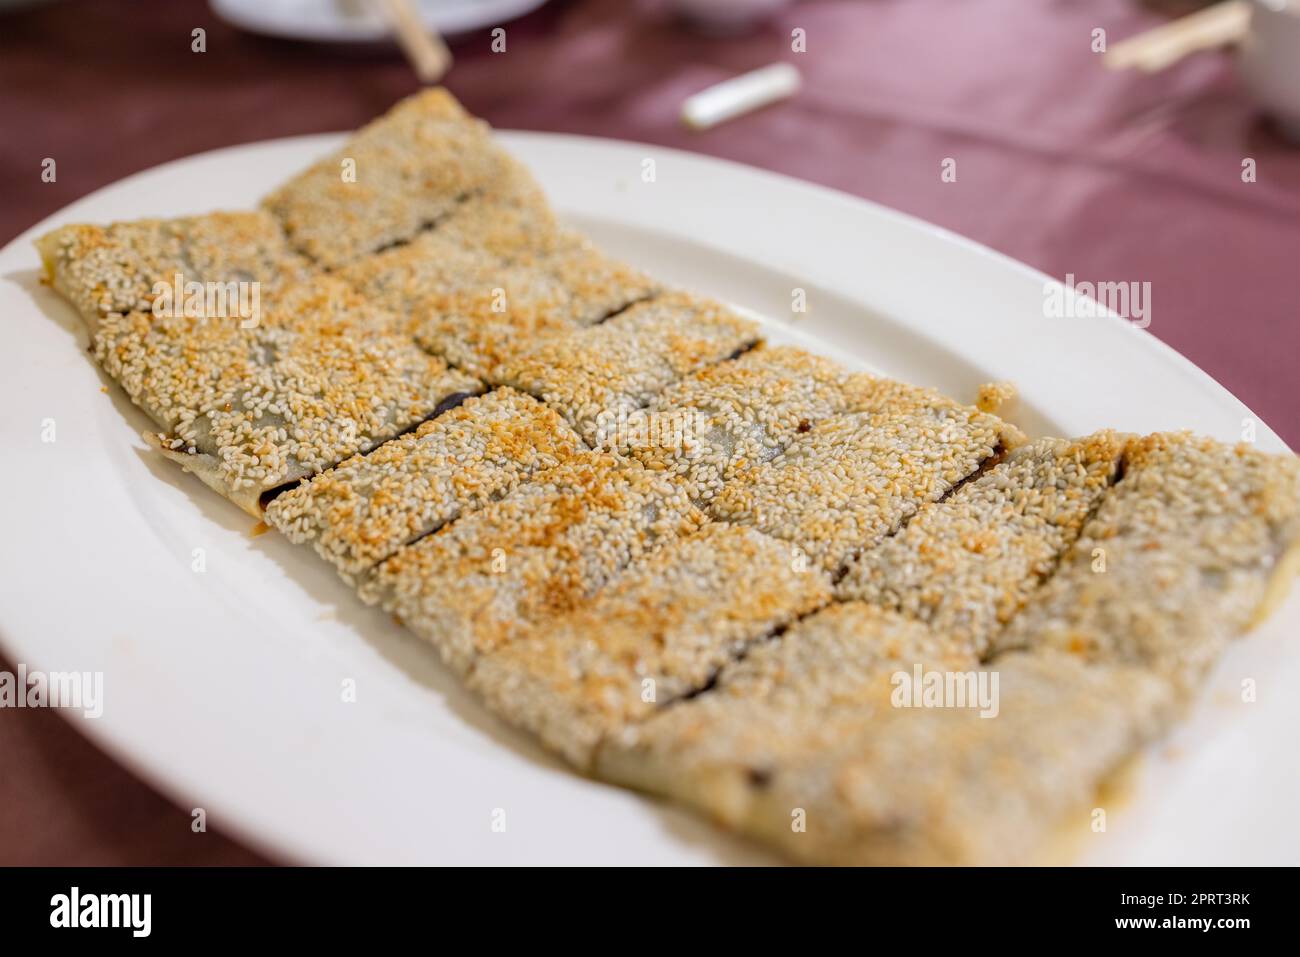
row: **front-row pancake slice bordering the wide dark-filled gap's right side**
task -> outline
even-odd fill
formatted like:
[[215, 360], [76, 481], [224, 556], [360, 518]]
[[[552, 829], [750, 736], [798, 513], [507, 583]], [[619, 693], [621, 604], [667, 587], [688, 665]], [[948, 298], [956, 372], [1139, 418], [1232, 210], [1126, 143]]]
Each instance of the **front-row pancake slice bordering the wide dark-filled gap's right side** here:
[[283, 493], [266, 523], [356, 584], [403, 545], [586, 450], [554, 411], [498, 389]]

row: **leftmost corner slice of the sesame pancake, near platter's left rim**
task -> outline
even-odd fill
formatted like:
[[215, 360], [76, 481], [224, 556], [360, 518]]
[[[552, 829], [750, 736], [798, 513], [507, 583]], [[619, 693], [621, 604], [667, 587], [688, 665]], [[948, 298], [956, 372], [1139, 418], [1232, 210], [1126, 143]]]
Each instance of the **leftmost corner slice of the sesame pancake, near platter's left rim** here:
[[254, 320], [240, 313], [252, 313], [309, 272], [280, 224], [260, 211], [62, 226], [38, 239], [36, 250], [47, 281], [77, 307], [92, 334], [100, 317], [150, 313], [160, 296], [170, 296], [183, 312], [195, 295], [190, 283], [204, 286], [205, 312], [209, 294], [220, 298], [213, 319]]

